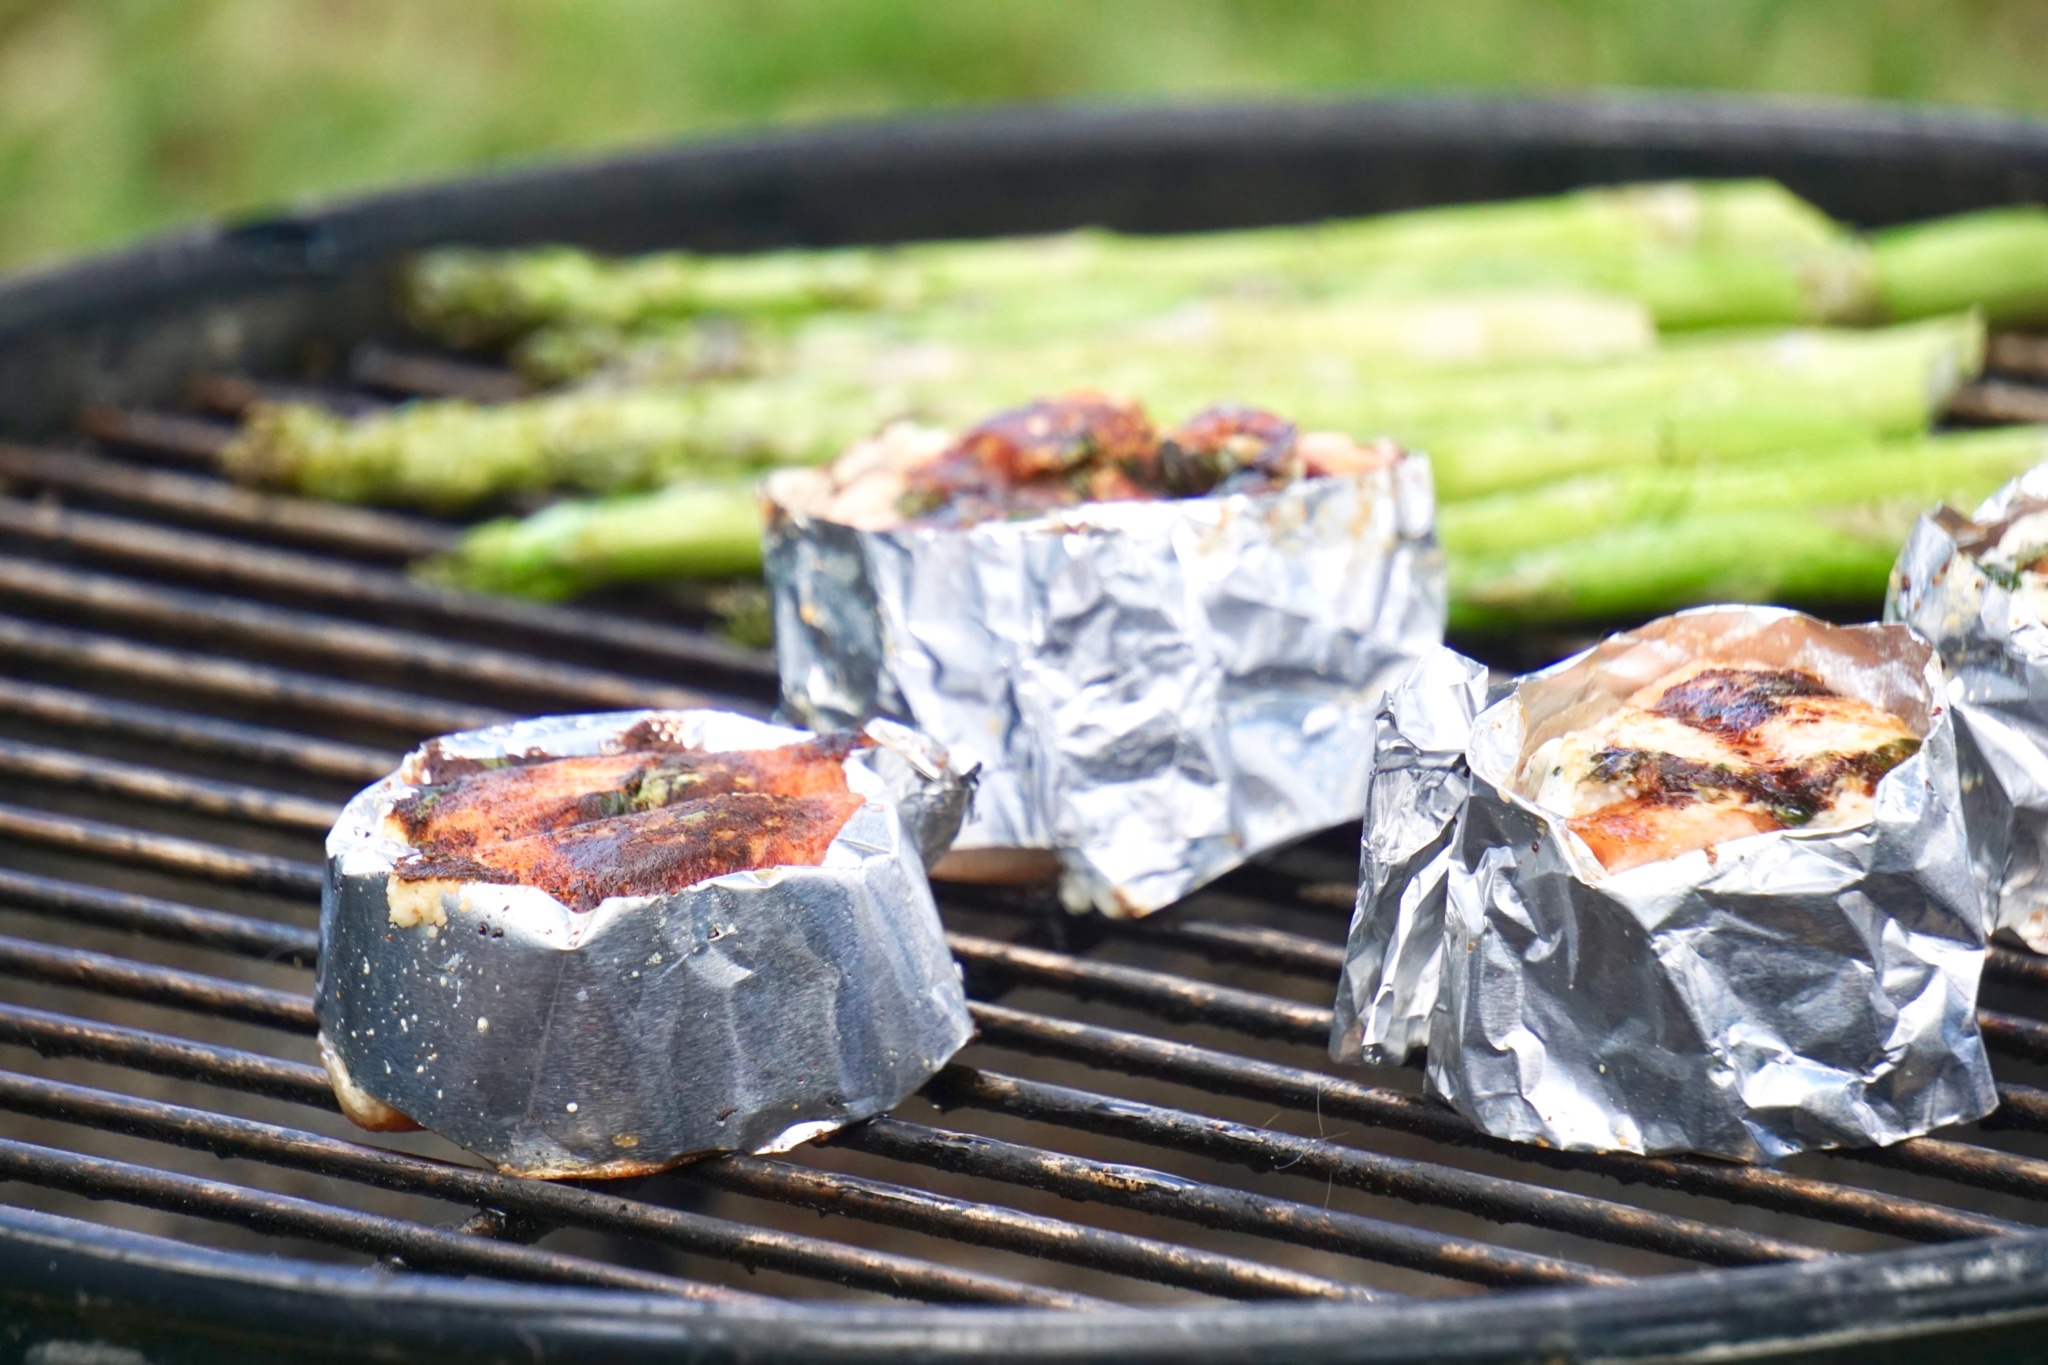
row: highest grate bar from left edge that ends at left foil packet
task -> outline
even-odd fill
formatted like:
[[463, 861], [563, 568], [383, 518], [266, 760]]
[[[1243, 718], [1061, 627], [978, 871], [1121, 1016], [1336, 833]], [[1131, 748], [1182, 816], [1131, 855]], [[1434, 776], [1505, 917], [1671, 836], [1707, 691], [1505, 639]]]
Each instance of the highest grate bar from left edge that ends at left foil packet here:
[[291, 731], [242, 724], [240, 720], [197, 716], [166, 706], [117, 702], [90, 692], [51, 688], [12, 677], [0, 677], [0, 714], [76, 731], [145, 739], [188, 753], [252, 759], [270, 767], [287, 767], [315, 778], [338, 778], [354, 784], [375, 782], [397, 767], [399, 759], [395, 751], [342, 745], [309, 735], [293, 735]]

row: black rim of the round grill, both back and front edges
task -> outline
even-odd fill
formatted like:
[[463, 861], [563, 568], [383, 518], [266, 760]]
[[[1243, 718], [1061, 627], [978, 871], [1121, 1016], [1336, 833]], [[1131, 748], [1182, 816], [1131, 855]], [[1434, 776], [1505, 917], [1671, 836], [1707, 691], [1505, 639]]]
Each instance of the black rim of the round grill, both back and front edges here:
[[[1247, 172], [1298, 182], [1337, 166], [1335, 184], [1296, 184], [1264, 203], [1231, 182]], [[0, 428], [37, 436], [80, 403], [166, 399], [207, 366], [276, 368], [309, 336], [375, 340], [393, 321], [383, 301], [389, 264], [438, 241], [735, 250], [1079, 221], [1186, 229], [1677, 174], [1769, 174], [1864, 223], [2048, 201], [2048, 121], [1714, 96], [1405, 98], [1030, 106], [692, 141], [172, 233], [0, 280]], [[903, 186], [915, 192], [897, 192]], [[1024, 219], [1014, 213], [1020, 194], [1032, 205]], [[905, 219], [918, 215], [909, 231]], [[199, 307], [225, 342], [195, 344], [186, 323]], [[606, 1359], [666, 1359], [678, 1345], [748, 1359], [913, 1349], [1407, 1361], [1559, 1349], [1667, 1357], [1737, 1345], [1776, 1355], [2048, 1318], [2048, 1230], [1690, 1271], [1626, 1289], [1073, 1316], [688, 1306], [631, 1291], [391, 1279], [0, 1205], [0, 1302], [96, 1330], [121, 1322], [162, 1345], [166, 1334], [201, 1336], [207, 1351], [254, 1345], [262, 1328], [303, 1345], [311, 1324], [332, 1324], [350, 1355], [389, 1349], [393, 1359], [524, 1359], [535, 1347], [573, 1359], [600, 1349]]]

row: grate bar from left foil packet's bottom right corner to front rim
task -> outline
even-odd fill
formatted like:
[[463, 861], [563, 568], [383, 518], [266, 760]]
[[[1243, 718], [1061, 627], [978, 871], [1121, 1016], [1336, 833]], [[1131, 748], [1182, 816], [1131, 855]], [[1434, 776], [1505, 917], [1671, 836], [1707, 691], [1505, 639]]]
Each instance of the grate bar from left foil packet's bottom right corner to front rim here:
[[1481, 1285], [1628, 1283], [1624, 1275], [1561, 1257], [1507, 1250], [1360, 1214], [1321, 1209], [1294, 1199], [1206, 1185], [1145, 1166], [1090, 1160], [895, 1117], [868, 1119], [831, 1134], [825, 1142], [954, 1175], [1006, 1181], [1067, 1199], [1110, 1203], [1225, 1232], [1298, 1242], [1317, 1250], [1337, 1250]]

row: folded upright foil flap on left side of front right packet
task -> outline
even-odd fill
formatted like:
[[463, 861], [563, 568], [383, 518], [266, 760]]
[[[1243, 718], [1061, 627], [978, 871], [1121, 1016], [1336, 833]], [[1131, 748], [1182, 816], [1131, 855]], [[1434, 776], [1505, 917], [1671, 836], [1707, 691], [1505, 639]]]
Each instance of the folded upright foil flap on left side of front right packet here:
[[1487, 679], [1487, 665], [1438, 647], [1380, 700], [1358, 907], [1329, 1029], [1337, 1062], [1399, 1064], [1430, 1040], [1452, 827], [1473, 790], [1464, 747]]

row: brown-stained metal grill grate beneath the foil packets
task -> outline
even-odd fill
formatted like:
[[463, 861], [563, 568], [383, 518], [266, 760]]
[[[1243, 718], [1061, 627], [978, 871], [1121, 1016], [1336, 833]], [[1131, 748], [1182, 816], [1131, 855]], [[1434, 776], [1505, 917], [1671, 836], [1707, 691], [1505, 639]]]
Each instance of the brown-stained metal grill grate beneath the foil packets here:
[[[2048, 352], [1958, 420], [2048, 403]], [[510, 397], [362, 350], [360, 407]], [[276, 385], [94, 409], [96, 450], [0, 444], [0, 1179], [12, 1203], [211, 1244], [729, 1300], [1063, 1310], [1622, 1283], [2048, 1222], [2048, 962], [1995, 950], [2003, 1109], [1784, 1171], [1477, 1136], [1411, 1070], [1331, 1072], [1356, 831], [1147, 921], [940, 894], [979, 1042], [920, 1099], [780, 1158], [502, 1177], [334, 1111], [311, 1052], [319, 837], [418, 739], [537, 710], [766, 712], [768, 659], [614, 600], [420, 587], [414, 516], [205, 473]], [[1516, 659], [1513, 665], [1540, 659]]]

